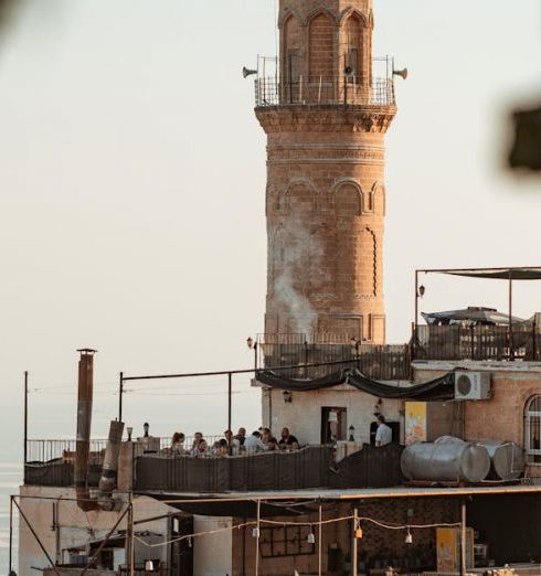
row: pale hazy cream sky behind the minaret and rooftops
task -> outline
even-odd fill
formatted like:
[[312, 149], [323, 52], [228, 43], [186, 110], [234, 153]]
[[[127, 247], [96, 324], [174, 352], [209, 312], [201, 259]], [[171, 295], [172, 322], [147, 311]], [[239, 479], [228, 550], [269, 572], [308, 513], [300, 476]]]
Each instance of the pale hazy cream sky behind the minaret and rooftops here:
[[[537, 0], [376, 0], [375, 52], [410, 68], [388, 136], [390, 343], [415, 267], [541, 265], [541, 179], [502, 168], [516, 103], [541, 99]], [[241, 68], [275, 54], [273, 0], [29, 0], [0, 44], [0, 417], [73, 436], [75, 350], [94, 346], [95, 436], [127, 374], [252, 365], [266, 287], [265, 140]], [[424, 311], [505, 309], [503, 284], [428, 279]], [[541, 310], [517, 287], [516, 313]], [[156, 434], [225, 426], [225, 382], [126, 399]], [[160, 384], [155, 385], [157, 388]], [[144, 388], [144, 390], [142, 390]], [[179, 395], [176, 390], [189, 395]], [[258, 424], [235, 388], [234, 426]], [[152, 431], [152, 430], [151, 430]]]

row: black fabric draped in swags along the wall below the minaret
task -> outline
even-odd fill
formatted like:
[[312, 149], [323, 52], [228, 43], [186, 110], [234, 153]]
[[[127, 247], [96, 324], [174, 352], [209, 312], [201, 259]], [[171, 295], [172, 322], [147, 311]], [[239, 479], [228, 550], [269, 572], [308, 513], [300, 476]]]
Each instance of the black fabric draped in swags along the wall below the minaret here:
[[370, 380], [358, 370], [342, 370], [316, 380], [286, 378], [270, 371], [261, 371], [256, 374], [257, 382], [272, 388], [289, 392], [309, 392], [330, 388], [340, 384], [349, 384], [354, 388], [379, 398], [446, 401], [455, 397], [455, 378], [450, 372], [445, 376], [407, 387], [399, 387]]

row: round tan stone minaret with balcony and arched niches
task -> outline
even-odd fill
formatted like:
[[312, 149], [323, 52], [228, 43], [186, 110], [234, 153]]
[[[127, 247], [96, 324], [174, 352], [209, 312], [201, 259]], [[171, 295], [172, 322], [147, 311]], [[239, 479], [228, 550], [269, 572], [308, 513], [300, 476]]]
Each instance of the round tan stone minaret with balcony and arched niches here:
[[372, 0], [280, 0], [279, 72], [256, 82], [268, 137], [267, 334], [384, 343], [385, 132]]

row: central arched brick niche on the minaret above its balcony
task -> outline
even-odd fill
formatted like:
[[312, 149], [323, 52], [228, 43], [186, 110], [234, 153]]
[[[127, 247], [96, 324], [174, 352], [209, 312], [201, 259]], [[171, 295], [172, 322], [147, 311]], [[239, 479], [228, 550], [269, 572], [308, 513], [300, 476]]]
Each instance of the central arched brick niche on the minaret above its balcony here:
[[319, 13], [310, 20], [308, 31], [309, 82], [331, 82], [335, 76], [335, 24]]

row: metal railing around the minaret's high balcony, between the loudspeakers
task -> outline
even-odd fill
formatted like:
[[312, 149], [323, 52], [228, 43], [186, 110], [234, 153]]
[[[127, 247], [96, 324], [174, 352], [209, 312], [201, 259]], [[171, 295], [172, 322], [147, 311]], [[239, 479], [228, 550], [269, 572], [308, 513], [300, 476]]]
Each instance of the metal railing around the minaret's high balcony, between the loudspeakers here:
[[356, 76], [299, 76], [294, 81], [261, 77], [255, 81], [255, 105], [287, 106], [335, 104], [395, 106], [392, 78], [372, 78], [368, 84]]

